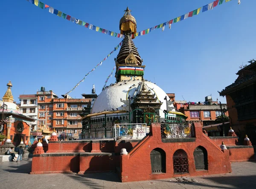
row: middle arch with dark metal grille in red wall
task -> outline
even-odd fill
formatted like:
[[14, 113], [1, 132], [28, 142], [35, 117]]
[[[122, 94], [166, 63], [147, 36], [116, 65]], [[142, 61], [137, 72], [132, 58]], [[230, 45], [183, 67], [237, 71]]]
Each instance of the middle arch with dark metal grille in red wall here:
[[183, 149], [177, 149], [173, 154], [174, 174], [189, 173], [188, 155]]

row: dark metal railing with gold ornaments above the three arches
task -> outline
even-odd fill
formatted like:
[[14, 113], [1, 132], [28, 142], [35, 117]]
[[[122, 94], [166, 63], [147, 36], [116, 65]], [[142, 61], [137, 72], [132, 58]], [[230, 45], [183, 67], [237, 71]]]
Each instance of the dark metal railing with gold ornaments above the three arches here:
[[162, 123], [162, 138], [185, 138], [194, 137], [193, 123]]

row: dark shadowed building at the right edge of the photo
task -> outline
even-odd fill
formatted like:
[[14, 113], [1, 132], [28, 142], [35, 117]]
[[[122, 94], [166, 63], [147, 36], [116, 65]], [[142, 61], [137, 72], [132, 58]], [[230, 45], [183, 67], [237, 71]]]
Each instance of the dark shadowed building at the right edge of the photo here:
[[245, 135], [256, 145], [256, 60], [240, 69], [234, 83], [220, 92], [226, 96], [230, 125], [239, 138]]

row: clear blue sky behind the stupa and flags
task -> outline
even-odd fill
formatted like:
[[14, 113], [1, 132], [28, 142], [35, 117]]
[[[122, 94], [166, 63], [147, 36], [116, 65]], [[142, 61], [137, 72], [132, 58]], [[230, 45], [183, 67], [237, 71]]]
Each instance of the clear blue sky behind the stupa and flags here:
[[[66, 14], [119, 32], [119, 20], [128, 6], [137, 31], [179, 17], [212, 0], [84, 1], [44, 0]], [[0, 29], [0, 97], [12, 81], [19, 94], [35, 94], [44, 86], [60, 97], [104, 59], [121, 39], [64, 20], [26, 0], [3, 1]], [[239, 66], [255, 59], [255, 0], [237, 0], [200, 12], [189, 19], [134, 39], [145, 67], [145, 79], [156, 82], [176, 100], [203, 101], [236, 79]], [[114, 66], [114, 52], [81, 83], [71, 97], [99, 94]], [[114, 83], [115, 78], [108, 81]], [[183, 97], [182, 97], [183, 96]]]

